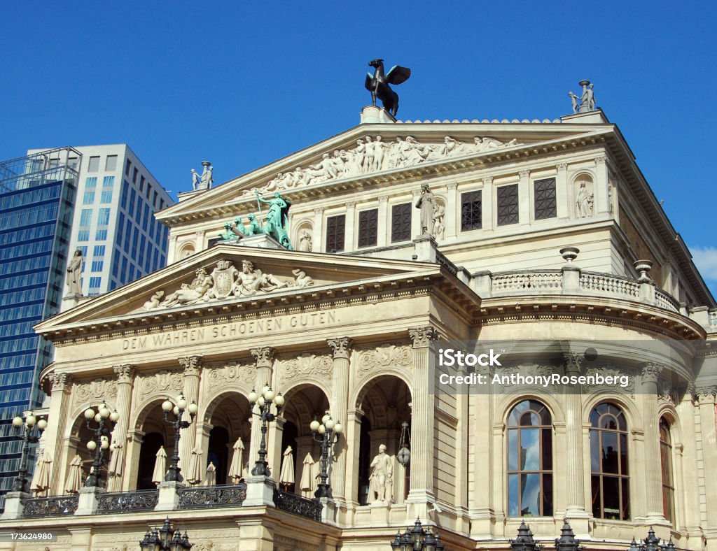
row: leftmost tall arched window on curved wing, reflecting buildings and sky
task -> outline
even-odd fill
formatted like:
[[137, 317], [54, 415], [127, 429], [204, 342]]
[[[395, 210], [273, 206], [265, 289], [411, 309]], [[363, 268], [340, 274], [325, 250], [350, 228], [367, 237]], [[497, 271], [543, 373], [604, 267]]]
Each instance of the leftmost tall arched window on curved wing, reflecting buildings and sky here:
[[508, 415], [508, 516], [553, 515], [553, 427], [539, 401], [523, 400]]

